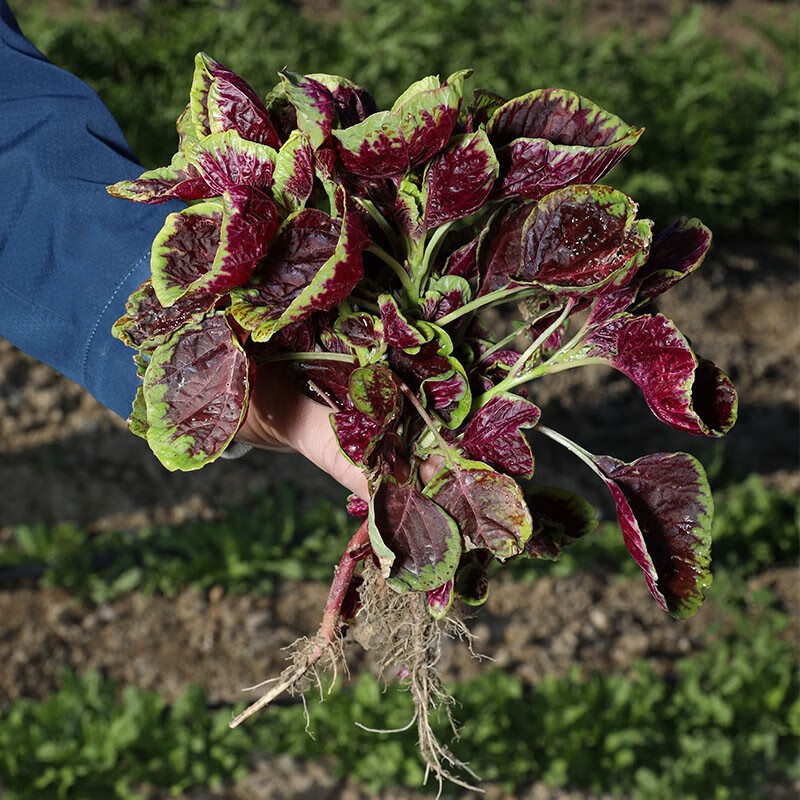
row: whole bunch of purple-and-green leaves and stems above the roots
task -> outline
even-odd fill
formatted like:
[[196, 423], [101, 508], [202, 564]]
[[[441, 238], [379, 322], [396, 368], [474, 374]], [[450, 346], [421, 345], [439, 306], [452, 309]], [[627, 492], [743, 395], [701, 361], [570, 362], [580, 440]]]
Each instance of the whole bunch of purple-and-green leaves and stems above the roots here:
[[[681, 219], [654, 236], [630, 197], [597, 183], [640, 129], [559, 89], [465, 102], [468, 75], [423, 78], [380, 111], [346, 78], [289, 71], [262, 102], [197, 56], [172, 163], [110, 187], [189, 203], [114, 327], [143, 377], [131, 429], [167, 468], [202, 467], [245, 419], [254, 373], [293, 361], [370, 487], [349, 505], [366, 521], [334, 580], [337, 625], [365, 560], [439, 618], [456, 596], [485, 600], [491, 561], [555, 558], [586, 535], [582, 498], [518, 482], [534, 474], [533, 429], [597, 473], [654, 599], [690, 615], [710, 581], [700, 464], [587, 453], [541, 423], [525, 386], [602, 363], [668, 425], [723, 435], [732, 384], [652, 307], [710, 233]], [[497, 338], [480, 317], [501, 303], [520, 319]]]

